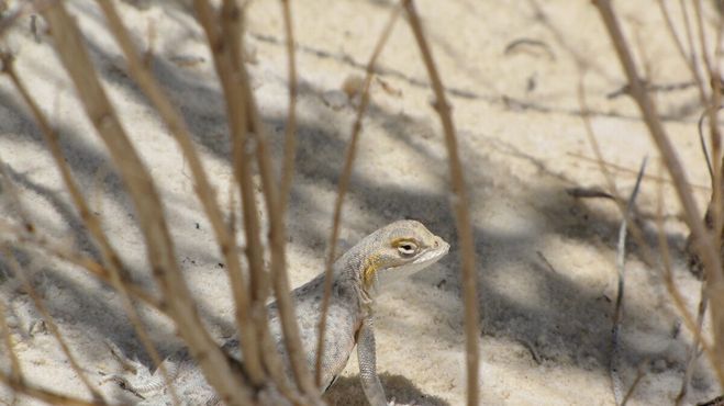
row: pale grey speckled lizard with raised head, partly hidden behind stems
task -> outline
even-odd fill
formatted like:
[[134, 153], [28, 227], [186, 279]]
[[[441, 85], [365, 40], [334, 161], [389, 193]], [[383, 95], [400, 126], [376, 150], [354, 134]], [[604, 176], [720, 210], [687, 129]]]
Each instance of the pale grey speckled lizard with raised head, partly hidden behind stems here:
[[[449, 250], [449, 245], [431, 233], [422, 223], [411, 219], [397, 221], [379, 228], [343, 253], [333, 264], [332, 296], [327, 313], [324, 338], [321, 387], [326, 392], [344, 370], [352, 351], [357, 348], [359, 377], [365, 397], [371, 406], [388, 405], [385, 390], [377, 374], [377, 356], [374, 331], [374, 304], [380, 289], [409, 277], [438, 261]], [[324, 272], [291, 292], [300, 338], [307, 363], [314, 368], [319, 322], [323, 296]], [[289, 360], [279, 323], [277, 304], [267, 306], [269, 328], [277, 350], [283, 356], [287, 375], [291, 376]], [[242, 362], [236, 338], [224, 342], [227, 353]], [[213, 388], [185, 350], [166, 360], [169, 379], [177, 393], [188, 405], [216, 405]], [[146, 393], [159, 393], [146, 397], [138, 405], [170, 405], [171, 401], [160, 373], [142, 385], [113, 376], [110, 380], [144, 397]]]

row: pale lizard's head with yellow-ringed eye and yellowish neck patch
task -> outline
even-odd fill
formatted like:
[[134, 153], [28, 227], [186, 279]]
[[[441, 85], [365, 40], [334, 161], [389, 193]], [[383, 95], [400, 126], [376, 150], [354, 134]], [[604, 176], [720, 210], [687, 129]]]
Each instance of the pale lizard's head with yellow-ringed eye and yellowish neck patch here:
[[420, 222], [391, 223], [369, 235], [360, 244], [369, 250], [363, 264], [363, 283], [370, 289], [411, 275], [445, 257], [449, 244], [432, 234]]

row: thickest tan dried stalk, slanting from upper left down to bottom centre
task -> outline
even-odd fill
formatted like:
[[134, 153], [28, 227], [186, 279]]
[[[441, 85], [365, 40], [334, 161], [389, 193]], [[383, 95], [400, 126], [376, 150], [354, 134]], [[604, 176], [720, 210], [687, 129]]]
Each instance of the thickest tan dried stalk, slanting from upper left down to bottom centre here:
[[247, 404], [248, 391], [238, 385], [241, 376], [203, 328], [175, 257], [174, 244], [165, 222], [156, 187], [129, 140], [98, 80], [75, 21], [62, 2], [43, 11], [55, 38], [55, 47], [78, 91], [86, 114], [105, 143], [133, 200], [146, 243], [153, 277], [158, 283], [169, 314], [199, 361], [209, 382], [227, 404]]

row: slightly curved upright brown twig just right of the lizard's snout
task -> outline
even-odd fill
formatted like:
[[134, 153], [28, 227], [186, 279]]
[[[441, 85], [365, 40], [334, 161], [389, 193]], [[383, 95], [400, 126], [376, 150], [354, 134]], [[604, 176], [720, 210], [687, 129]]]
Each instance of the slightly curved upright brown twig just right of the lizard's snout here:
[[466, 365], [468, 373], [468, 406], [478, 405], [479, 397], [479, 302], [477, 292], [477, 278], [475, 264], [475, 246], [472, 243], [472, 227], [470, 225], [470, 215], [468, 212], [468, 195], [465, 187], [465, 177], [463, 166], [457, 150], [457, 139], [455, 135], [455, 125], [450, 114], [450, 106], [445, 98], [445, 88], [437, 74], [432, 52], [427, 45], [427, 40], [423, 33], [420, 16], [414, 7], [414, 1], [406, 0], [404, 5], [408, 12], [408, 21], [414, 34], [420, 53], [427, 69], [427, 76], [435, 92], [435, 106], [443, 124], [445, 134], [445, 145], [447, 147], [450, 180], [453, 189], [453, 208], [455, 211], [456, 228], [460, 243], [460, 257], [463, 269], [463, 297], [465, 303], [465, 338], [466, 338]]

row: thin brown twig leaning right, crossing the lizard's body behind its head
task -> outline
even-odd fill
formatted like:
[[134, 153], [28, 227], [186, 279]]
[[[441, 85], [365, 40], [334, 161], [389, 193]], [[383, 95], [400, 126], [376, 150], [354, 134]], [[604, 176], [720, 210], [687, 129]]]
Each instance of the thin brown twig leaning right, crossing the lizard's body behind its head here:
[[330, 307], [330, 295], [332, 294], [332, 266], [336, 259], [336, 247], [337, 239], [339, 237], [339, 221], [342, 218], [342, 204], [344, 203], [344, 196], [347, 192], [349, 185], [349, 178], [352, 177], [352, 168], [355, 161], [355, 156], [357, 154], [357, 143], [359, 139], [359, 133], [361, 132], [361, 121], [367, 111], [367, 105], [369, 104], [369, 86], [372, 81], [372, 75], [375, 74], [375, 64], [377, 58], [382, 53], [382, 48], [387, 43], [394, 22], [397, 21], [400, 14], [400, 7], [392, 9], [390, 18], [382, 30], [382, 33], [375, 45], [375, 50], [367, 63], [365, 81], [363, 82], [360, 102], [357, 108], [357, 115], [355, 122], [352, 126], [352, 136], [349, 144], [347, 145], [347, 150], [345, 153], [345, 162], [344, 168], [342, 169], [342, 174], [339, 176], [339, 184], [337, 185], [337, 196], [334, 202], [334, 214], [332, 223], [332, 233], [330, 235], [330, 240], [327, 241], [327, 257], [324, 264], [324, 294], [322, 296], [322, 307], [320, 314], [320, 324], [319, 324], [319, 335], [316, 341], [316, 360], [314, 361], [314, 381], [316, 385], [321, 385], [322, 381], [322, 357], [324, 353], [324, 335], [326, 334], [326, 315]]

